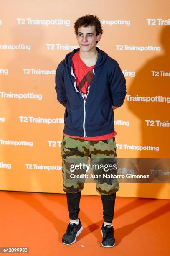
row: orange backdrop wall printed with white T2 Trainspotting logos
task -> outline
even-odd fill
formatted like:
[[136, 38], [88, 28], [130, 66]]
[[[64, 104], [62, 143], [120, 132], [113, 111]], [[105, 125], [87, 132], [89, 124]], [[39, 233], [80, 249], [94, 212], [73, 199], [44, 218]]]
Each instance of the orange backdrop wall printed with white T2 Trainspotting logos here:
[[[118, 61], [127, 80], [124, 105], [114, 111], [117, 157], [169, 157], [169, 10], [169, 0], [1, 3], [1, 190], [63, 193], [64, 107], [56, 98], [55, 71], [78, 47], [74, 22], [88, 13], [104, 29], [100, 49]], [[82, 194], [99, 195], [95, 184], [85, 184]], [[169, 184], [120, 184], [117, 195], [170, 198]]]

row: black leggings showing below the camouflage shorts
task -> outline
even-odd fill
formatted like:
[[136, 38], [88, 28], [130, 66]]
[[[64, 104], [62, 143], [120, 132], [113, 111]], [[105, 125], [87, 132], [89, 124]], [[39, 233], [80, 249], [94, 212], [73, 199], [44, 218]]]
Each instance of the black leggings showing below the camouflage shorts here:
[[[79, 204], [81, 198], [81, 191], [75, 194], [66, 193], [67, 205], [69, 210], [69, 218], [76, 220], [79, 215]], [[105, 222], [112, 223], [114, 216], [114, 204], [115, 204], [116, 193], [112, 195], [101, 195], [101, 201], [103, 204], [103, 218]]]

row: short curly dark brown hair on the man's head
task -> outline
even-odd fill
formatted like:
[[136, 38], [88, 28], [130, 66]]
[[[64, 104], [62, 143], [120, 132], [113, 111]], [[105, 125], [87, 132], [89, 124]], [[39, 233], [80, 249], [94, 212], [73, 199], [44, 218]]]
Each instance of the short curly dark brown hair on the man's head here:
[[[80, 18], [78, 18], [76, 20], [76, 22], [74, 23], [74, 32], [77, 35], [78, 34], [78, 28], [83, 26], [83, 27], [88, 27], [88, 26], [95, 26], [96, 27], [96, 36], [99, 35], [99, 33], [103, 34], [103, 29], [101, 26], [101, 22], [99, 20], [99, 18], [95, 15], [90, 15], [87, 14], [85, 16], [82, 16]], [[98, 41], [96, 41], [96, 44], [98, 43]]]

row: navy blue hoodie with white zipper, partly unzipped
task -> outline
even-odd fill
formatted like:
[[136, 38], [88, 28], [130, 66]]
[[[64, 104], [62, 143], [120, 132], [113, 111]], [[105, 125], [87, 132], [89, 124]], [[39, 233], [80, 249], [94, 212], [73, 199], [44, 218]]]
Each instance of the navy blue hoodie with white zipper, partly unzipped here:
[[116, 60], [96, 47], [99, 52], [93, 69], [86, 101], [76, 87], [71, 56], [80, 49], [66, 54], [56, 69], [58, 101], [66, 107], [63, 132], [72, 136], [94, 137], [114, 131], [112, 105], [120, 107], [126, 95], [126, 80]]

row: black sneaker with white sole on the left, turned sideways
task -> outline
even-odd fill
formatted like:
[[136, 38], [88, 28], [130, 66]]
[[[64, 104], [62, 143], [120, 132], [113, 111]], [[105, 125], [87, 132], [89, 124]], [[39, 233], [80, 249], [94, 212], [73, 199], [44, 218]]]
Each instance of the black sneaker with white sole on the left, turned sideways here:
[[76, 225], [73, 222], [70, 222], [67, 226], [66, 233], [63, 235], [62, 242], [63, 244], [69, 245], [76, 242], [76, 237], [79, 236], [81, 231], [83, 230], [83, 226], [81, 225], [81, 221], [79, 219], [79, 224]]

